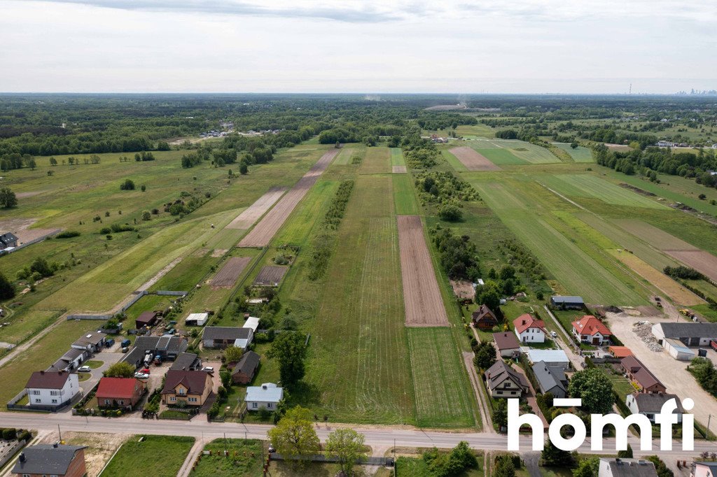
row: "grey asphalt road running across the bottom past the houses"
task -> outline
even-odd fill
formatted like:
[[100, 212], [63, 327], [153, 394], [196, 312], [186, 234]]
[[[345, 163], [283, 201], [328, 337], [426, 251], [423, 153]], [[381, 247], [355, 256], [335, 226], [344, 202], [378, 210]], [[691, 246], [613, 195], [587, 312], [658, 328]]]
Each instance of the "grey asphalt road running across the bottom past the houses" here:
[[[255, 438], [265, 439], [267, 430], [271, 425], [239, 424], [239, 423], [208, 423], [206, 420], [194, 418], [189, 421], [174, 420], [146, 420], [135, 416], [124, 418], [99, 418], [79, 417], [69, 414], [36, 414], [36, 413], [0, 413], [1, 427], [29, 428], [37, 430], [57, 430], [60, 425], [61, 431], [73, 430], [77, 432], [90, 433], [134, 433], [134, 434], [161, 434], [161, 435], [191, 435], [196, 438], [219, 438], [224, 434], [228, 438]], [[351, 426], [363, 433], [366, 444], [372, 446], [392, 446], [394, 443], [407, 447], [432, 447], [451, 448], [460, 440], [465, 440], [475, 449], [506, 450], [507, 440], [503, 434], [489, 433], [450, 433], [441, 431], [429, 431], [416, 428], [391, 428], [386, 427], [365, 427]], [[320, 424], [316, 430], [322, 441], [326, 440], [328, 433], [333, 430], [334, 425], [329, 423]], [[655, 435], [657, 437], [657, 435]], [[695, 458], [702, 450], [717, 452], [717, 443], [695, 440], [695, 450], [685, 452], [681, 443], [673, 442], [674, 450], [659, 450], [659, 441], [653, 441], [653, 450], [640, 450], [640, 443], [637, 438], [630, 436], [628, 442], [632, 445], [635, 456], [647, 456], [659, 454], [660, 456], [685, 456]], [[521, 450], [530, 450], [531, 440], [528, 437], [521, 438]], [[611, 453], [614, 449], [614, 439], [604, 439], [604, 449], [595, 453]], [[590, 450], [589, 438], [579, 448], [581, 453], [592, 453]]]

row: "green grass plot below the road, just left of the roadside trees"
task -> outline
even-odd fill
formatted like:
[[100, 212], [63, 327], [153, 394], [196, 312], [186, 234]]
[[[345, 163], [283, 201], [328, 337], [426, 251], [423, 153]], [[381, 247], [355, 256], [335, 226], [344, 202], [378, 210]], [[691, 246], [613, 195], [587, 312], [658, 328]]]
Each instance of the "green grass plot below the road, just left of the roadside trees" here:
[[[211, 456], [201, 456], [191, 477], [237, 476], [254, 477], [262, 472], [262, 441], [217, 439], [204, 446]], [[229, 456], [224, 456], [224, 450]], [[253, 454], [253, 456], [252, 456]]]

